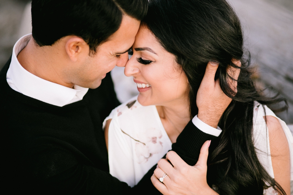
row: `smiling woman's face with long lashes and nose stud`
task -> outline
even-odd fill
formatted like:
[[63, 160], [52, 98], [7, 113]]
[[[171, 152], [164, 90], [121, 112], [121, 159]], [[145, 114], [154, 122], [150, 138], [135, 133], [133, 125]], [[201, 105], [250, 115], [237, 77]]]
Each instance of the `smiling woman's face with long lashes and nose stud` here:
[[141, 105], [167, 106], [187, 99], [188, 80], [181, 66], [148, 28], [140, 26], [132, 49], [124, 73], [137, 83]]

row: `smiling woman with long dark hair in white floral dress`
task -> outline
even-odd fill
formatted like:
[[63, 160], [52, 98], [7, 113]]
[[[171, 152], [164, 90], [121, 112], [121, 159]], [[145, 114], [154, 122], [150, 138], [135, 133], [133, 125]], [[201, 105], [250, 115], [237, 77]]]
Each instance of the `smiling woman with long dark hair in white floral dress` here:
[[[150, 1], [125, 67], [139, 95], [104, 121], [110, 173], [133, 186], [171, 149], [198, 112], [196, 94], [209, 61], [219, 63], [216, 79], [233, 99], [207, 162], [209, 187], [219, 194], [290, 194], [293, 137], [265, 106], [283, 100], [255, 89], [239, 19], [225, 0]], [[237, 91], [231, 67], [241, 70]]]

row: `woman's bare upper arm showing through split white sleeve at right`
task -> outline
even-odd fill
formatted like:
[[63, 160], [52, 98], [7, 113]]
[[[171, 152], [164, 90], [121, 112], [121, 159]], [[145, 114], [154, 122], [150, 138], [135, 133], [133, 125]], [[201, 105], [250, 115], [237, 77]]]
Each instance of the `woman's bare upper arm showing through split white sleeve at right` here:
[[290, 194], [290, 153], [286, 135], [277, 118], [266, 116], [275, 180]]

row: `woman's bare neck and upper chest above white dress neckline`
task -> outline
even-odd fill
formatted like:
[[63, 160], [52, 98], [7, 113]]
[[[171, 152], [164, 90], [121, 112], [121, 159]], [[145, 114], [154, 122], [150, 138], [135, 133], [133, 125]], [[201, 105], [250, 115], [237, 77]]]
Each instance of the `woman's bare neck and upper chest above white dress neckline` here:
[[156, 106], [156, 108], [170, 140], [175, 143], [190, 121], [188, 99], [176, 100], [176, 102], [169, 102], [164, 106]]

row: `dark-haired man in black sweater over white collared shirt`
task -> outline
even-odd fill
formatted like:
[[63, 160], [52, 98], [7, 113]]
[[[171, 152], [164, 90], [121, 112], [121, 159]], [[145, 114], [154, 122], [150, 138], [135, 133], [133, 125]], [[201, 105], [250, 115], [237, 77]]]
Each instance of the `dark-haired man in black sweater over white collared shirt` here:
[[[0, 73], [1, 175], [8, 194], [159, 193], [150, 180], [155, 166], [134, 188], [109, 174], [102, 130], [119, 105], [108, 72], [125, 66], [147, 3], [32, 1], [32, 35], [18, 40]], [[216, 70], [208, 65], [206, 86], [214, 86]], [[202, 144], [216, 138], [204, 130], [207, 124], [216, 127], [225, 110], [217, 108], [219, 117], [211, 120], [216, 109], [208, 100], [199, 105], [206, 124], [199, 130], [190, 122], [172, 147], [190, 165]]]

